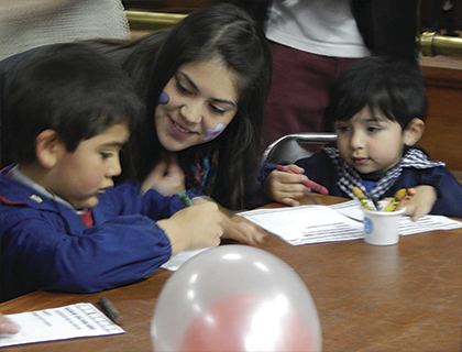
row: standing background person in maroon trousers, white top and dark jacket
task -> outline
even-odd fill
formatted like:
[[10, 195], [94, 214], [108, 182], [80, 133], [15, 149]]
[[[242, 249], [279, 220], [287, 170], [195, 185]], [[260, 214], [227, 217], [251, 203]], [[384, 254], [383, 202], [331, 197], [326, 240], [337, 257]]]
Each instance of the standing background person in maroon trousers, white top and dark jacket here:
[[356, 59], [374, 54], [417, 63], [417, 0], [218, 1], [246, 9], [270, 41], [265, 146], [289, 133], [326, 130], [329, 87]]

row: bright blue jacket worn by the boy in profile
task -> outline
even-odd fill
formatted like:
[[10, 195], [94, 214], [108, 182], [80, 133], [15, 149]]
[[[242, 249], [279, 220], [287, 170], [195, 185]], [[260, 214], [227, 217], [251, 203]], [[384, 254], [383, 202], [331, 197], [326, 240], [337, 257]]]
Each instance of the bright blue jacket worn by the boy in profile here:
[[0, 301], [36, 289], [91, 293], [133, 283], [172, 255], [155, 220], [184, 206], [177, 196], [123, 184], [100, 195], [86, 228], [69, 208], [0, 174]]

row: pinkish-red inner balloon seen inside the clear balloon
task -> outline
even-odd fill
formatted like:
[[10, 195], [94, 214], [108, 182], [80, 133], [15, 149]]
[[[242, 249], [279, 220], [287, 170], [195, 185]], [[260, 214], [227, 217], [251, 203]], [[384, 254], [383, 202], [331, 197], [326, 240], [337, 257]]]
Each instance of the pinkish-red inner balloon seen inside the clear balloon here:
[[301, 317], [277, 305], [256, 295], [222, 298], [190, 323], [179, 351], [316, 351]]

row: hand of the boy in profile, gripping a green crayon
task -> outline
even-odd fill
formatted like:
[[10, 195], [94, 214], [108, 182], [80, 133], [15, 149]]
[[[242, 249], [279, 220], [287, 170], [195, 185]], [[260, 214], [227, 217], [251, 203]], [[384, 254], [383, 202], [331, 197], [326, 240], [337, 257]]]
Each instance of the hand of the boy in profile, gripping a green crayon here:
[[179, 210], [169, 219], [157, 221], [170, 240], [173, 255], [180, 251], [220, 244], [220, 237], [223, 234], [223, 226], [228, 217], [213, 201], [195, 199], [194, 204], [193, 207]]

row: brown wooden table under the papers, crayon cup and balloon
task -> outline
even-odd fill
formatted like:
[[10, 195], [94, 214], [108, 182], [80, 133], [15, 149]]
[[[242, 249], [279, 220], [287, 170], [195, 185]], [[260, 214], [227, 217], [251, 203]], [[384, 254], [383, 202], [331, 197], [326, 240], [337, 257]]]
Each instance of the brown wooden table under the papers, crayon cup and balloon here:
[[[339, 198], [315, 196], [321, 204]], [[245, 221], [245, 220], [243, 220]], [[402, 237], [397, 245], [363, 241], [292, 246], [268, 235], [262, 249], [283, 258], [318, 309], [323, 351], [461, 351], [462, 229]], [[172, 273], [88, 294], [35, 292], [0, 305], [8, 315], [108, 297], [125, 334], [4, 348], [1, 351], [152, 351], [150, 324]]]

